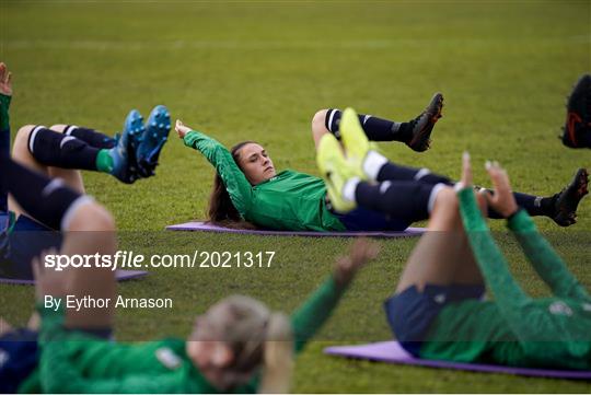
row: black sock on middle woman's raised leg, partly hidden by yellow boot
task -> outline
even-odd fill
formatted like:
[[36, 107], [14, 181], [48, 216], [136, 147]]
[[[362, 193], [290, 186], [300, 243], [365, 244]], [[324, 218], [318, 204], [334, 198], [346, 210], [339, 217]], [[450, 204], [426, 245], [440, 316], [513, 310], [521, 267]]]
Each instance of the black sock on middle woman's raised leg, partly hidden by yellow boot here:
[[[331, 108], [324, 119], [326, 129], [335, 135], [337, 139], [340, 138], [338, 126], [341, 115], [343, 112], [340, 109]], [[407, 142], [413, 137], [413, 129], [408, 127], [407, 123], [401, 124], [363, 114], [358, 114], [358, 117], [369, 140]]]

